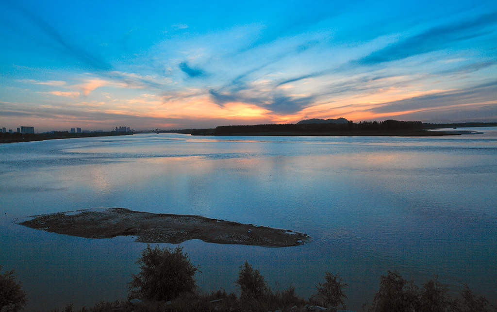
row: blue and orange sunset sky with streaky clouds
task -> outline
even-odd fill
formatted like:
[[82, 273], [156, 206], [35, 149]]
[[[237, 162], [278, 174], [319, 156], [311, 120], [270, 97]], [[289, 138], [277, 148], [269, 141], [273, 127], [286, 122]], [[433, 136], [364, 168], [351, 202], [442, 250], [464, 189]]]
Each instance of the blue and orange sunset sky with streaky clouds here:
[[497, 121], [497, 1], [0, 0], [0, 128]]

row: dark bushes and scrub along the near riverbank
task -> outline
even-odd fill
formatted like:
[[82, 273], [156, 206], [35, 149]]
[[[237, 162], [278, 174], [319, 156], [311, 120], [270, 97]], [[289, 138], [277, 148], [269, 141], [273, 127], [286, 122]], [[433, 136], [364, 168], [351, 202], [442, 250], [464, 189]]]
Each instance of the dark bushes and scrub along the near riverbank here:
[[[128, 284], [128, 300], [99, 302], [83, 307], [81, 312], [339, 312], [346, 309], [347, 284], [338, 275], [325, 272], [325, 282], [316, 286], [309, 299], [299, 298], [295, 287], [270, 289], [260, 272], [247, 261], [240, 266], [235, 281], [240, 295], [225, 290], [200, 293], [195, 282], [198, 267], [194, 266], [182, 248], [152, 248], [142, 251], [136, 262], [140, 273]], [[0, 267], [1, 268], [1, 267]], [[0, 312], [21, 311], [26, 305], [26, 293], [15, 281], [13, 271], [0, 274]], [[59, 312], [60, 310], [52, 310]], [[72, 312], [73, 305], [63, 310]], [[363, 305], [367, 312], [496, 312], [485, 297], [478, 297], [464, 285], [454, 298], [447, 285], [438, 277], [425, 281], [420, 287], [404, 279], [397, 271], [381, 276], [379, 289], [371, 303]]]

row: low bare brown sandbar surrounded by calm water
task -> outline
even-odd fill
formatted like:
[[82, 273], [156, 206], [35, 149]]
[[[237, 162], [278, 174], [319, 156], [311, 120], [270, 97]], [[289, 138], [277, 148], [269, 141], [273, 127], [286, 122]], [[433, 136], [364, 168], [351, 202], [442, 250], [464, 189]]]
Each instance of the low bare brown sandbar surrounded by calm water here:
[[154, 214], [125, 208], [79, 210], [40, 216], [19, 223], [32, 229], [86, 238], [136, 236], [135, 241], [173, 243], [200, 239], [219, 244], [263, 247], [298, 246], [307, 234], [193, 215]]

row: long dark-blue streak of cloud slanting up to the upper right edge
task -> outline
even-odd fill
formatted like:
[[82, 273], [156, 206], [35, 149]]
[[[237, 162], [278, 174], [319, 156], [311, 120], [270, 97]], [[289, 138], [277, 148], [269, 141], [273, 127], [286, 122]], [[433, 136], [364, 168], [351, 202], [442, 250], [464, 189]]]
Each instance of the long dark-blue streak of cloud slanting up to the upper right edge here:
[[406, 59], [415, 55], [429, 53], [453, 46], [456, 42], [472, 39], [492, 32], [484, 31], [488, 26], [496, 24], [497, 12], [481, 15], [474, 20], [466, 20], [457, 24], [440, 26], [409, 37], [384, 49], [373, 52], [357, 61], [363, 65], [374, 65], [384, 62]]

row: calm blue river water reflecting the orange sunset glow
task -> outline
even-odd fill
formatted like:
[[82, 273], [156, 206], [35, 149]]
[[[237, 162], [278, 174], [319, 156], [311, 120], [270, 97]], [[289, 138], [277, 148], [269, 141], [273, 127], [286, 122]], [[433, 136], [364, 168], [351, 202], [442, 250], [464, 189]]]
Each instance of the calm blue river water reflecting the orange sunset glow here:
[[[458, 129], [461, 130], [461, 129]], [[464, 130], [464, 129], [463, 129]], [[313, 241], [265, 248], [190, 240], [204, 292], [237, 291], [248, 260], [274, 289], [309, 297], [338, 273], [347, 306], [379, 277], [438, 274], [497, 302], [497, 128], [454, 137], [192, 137], [142, 134], [0, 145], [0, 265], [28, 310], [124, 299], [146, 244], [46, 233], [20, 219], [124, 207], [296, 230]], [[20, 218], [20, 219], [19, 219]], [[170, 244], [161, 244], [171, 246]]]

